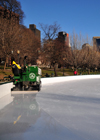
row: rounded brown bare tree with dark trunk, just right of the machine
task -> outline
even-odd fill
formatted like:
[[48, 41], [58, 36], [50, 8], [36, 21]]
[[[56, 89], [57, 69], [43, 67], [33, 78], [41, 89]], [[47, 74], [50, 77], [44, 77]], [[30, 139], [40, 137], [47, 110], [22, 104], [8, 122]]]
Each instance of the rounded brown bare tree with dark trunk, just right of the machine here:
[[57, 65], [63, 65], [63, 59], [68, 58], [67, 54], [68, 47], [59, 39], [47, 41], [43, 46], [44, 62], [46, 65], [53, 66], [55, 76], [57, 76]]

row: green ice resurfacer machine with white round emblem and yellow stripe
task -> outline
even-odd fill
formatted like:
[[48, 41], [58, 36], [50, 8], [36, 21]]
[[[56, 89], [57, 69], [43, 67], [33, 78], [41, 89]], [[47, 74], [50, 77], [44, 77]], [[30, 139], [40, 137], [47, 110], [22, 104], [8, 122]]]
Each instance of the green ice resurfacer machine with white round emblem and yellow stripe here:
[[21, 68], [14, 59], [11, 60], [12, 72], [14, 74], [11, 95], [14, 94], [33, 94], [40, 91], [41, 88], [41, 69], [37, 65], [26, 65], [26, 56], [24, 57], [24, 66]]

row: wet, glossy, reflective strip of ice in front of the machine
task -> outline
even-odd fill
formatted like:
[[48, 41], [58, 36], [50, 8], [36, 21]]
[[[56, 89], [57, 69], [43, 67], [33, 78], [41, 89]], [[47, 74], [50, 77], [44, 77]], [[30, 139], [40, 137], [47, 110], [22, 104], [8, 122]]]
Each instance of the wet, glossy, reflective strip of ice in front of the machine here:
[[0, 140], [66, 140], [67, 137], [78, 140], [40, 109], [33, 95], [15, 97], [0, 116]]

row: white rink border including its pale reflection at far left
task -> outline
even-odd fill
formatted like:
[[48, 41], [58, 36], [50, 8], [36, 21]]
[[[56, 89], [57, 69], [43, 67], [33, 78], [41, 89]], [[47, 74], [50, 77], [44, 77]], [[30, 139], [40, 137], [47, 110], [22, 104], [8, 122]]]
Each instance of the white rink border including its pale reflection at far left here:
[[[46, 85], [52, 85], [58, 82], [68, 82], [73, 80], [83, 80], [83, 79], [97, 79], [100, 78], [100, 75], [77, 75], [77, 76], [63, 76], [63, 77], [49, 77], [41, 78], [42, 87]], [[7, 83], [0, 85], [0, 109], [12, 102], [13, 98], [11, 97], [11, 88], [13, 83]]]

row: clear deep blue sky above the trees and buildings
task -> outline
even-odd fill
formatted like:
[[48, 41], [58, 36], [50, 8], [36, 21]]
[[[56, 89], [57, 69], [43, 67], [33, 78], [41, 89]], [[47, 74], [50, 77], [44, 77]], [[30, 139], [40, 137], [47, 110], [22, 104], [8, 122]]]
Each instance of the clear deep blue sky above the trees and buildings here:
[[18, 0], [25, 13], [24, 25], [39, 23], [61, 26], [61, 31], [73, 30], [92, 39], [100, 36], [100, 0]]

